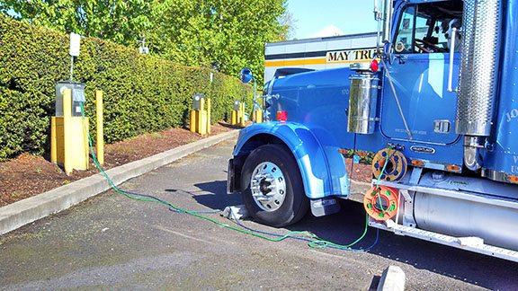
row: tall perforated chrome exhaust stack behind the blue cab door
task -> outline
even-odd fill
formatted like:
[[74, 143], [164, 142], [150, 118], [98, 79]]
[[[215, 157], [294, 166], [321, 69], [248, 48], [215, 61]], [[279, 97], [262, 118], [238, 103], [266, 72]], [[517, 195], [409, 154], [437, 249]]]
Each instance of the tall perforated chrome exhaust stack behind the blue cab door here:
[[502, 19], [499, 0], [464, 1], [455, 132], [467, 136], [464, 163], [472, 171], [482, 165], [480, 149], [491, 132]]

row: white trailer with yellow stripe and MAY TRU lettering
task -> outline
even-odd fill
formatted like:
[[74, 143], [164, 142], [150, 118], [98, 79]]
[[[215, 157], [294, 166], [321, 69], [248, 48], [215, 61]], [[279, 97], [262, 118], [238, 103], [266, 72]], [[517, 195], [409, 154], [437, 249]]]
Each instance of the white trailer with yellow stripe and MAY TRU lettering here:
[[369, 32], [266, 43], [264, 84], [276, 74], [289, 75], [290, 71], [322, 70], [369, 62], [376, 52], [376, 40], [377, 33]]

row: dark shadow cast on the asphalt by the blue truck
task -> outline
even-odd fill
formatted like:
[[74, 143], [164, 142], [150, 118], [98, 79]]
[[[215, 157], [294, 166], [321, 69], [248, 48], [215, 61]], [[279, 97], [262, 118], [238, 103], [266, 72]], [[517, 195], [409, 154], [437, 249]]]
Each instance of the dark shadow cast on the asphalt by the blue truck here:
[[[226, 181], [204, 182], [194, 186], [198, 187], [200, 191], [189, 194], [205, 207], [221, 210], [227, 206], [243, 204], [241, 195], [227, 194]], [[350, 200], [340, 202], [342, 210], [335, 215], [315, 217], [308, 213], [299, 223], [285, 228], [289, 231], [308, 231], [323, 240], [348, 245], [360, 238], [365, 231], [366, 214], [360, 203]], [[261, 229], [265, 230], [264, 228], [268, 228], [268, 226], [262, 225]], [[272, 233], [280, 233], [275, 228], [270, 227], [270, 229]], [[268, 230], [266, 229], [266, 231]], [[372, 254], [412, 266], [415, 269], [426, 269], [479, 287], [501, 290], [518, 289], [516, 281], [518, 268], [514, 262], [399, 236], [386, 231], [380, 230], [379, 234], [377, 232], [377, 229], [368, 227], [363, 239], [351, 248], [364, 250], [374, 244], [369, 251]]]

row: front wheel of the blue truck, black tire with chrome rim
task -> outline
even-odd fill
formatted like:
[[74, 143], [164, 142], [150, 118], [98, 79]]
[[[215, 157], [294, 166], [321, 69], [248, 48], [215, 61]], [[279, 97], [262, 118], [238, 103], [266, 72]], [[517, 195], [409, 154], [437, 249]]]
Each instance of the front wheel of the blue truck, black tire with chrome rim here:
[[257, 147], [243, 165], [241, 186], [250, 215], [264, 225], [292, 225], [308, 211], [299, 166], [286, 146]]

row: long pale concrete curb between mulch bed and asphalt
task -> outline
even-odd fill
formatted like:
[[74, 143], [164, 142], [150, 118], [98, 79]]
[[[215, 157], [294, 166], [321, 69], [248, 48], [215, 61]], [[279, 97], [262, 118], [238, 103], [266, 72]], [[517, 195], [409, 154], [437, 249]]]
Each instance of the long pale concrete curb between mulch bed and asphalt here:
[[[164, 153], [112, 168], [106, 173], [115, 185], [119, 185], [123, 181], [155, 170], [167, 163], [172, 163], [205, 147], [216, 145], [228, 138], [237, 137], [238, 132], [238, 130], [231, 130], [217, 136], [203, 138], [192, 144], [181, 145]], [[110, 183], [104, 178], [103, 174], [97, 173], [57, 189], [0, 207], [0, 234], [9, 233], [22, 225], [30, 224], [42, 217], [67, 209], [110, 189], [110, 187]]]

